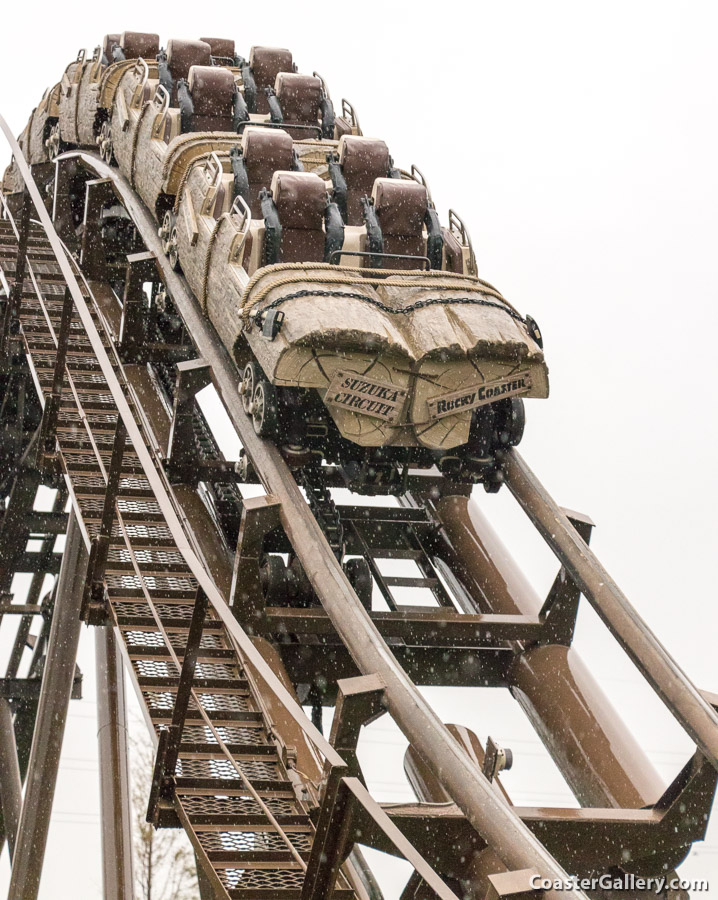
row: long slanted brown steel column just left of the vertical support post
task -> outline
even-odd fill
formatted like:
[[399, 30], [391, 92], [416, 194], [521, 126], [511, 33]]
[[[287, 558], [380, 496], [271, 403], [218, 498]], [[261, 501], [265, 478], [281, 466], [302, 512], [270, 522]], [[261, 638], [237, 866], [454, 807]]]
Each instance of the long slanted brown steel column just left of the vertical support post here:
[[8, 900], [20, 897], [36, 900], [40, 888], [67, 708], [75, 677], [86, 569], [87, 551], [73, 511], [57, 585]]

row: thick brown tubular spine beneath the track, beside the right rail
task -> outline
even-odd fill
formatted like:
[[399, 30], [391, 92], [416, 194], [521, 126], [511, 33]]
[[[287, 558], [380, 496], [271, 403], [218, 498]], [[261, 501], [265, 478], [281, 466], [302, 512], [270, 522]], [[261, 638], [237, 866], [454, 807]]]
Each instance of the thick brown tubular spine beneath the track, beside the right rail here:
[[[435, 511], [442, 525], [436, 552], [461, 581], [472, 610], [537, 615], [541, 600], [476, 501], [444, 497]], [[630, 809], [661, 796], [658, 774], [575, 649], [529, 646], [517, 654], [510, 677], [514, 696], [583, 805]]]

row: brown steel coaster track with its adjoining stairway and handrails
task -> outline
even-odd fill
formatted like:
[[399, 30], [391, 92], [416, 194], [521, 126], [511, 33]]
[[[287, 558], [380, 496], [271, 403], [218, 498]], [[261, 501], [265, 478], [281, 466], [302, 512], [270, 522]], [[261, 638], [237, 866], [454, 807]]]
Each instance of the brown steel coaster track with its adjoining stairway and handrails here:
[[[0, 124], [24, 185], [15, 217], [2, 197], [4, 389], [14, 396], [18, 383], [32, 386], [41, 411], [38, 422], [8, 404], [24, 455], [8, 465], [2, 527], [16, 540], [3, 543], [4, 570], [22, 570], [27, 535], [42, 532], [31, 522], [33, 488], [66, 486], [68, 547], [77, 552], [74, 562], [65, 553], [64, 579], [80, 573], [84, 586], [65, 596], [61, 571], [54, 618], [60, 608], [70, 616], [74, 596], [84, 621], [113, 629], [156, 742], [149, 818], [186, 830], [206, 896], [378, 897], [359, 844], [411, 863], [407, 898], [598, 897], [576, 886], [541, 892], [533, 878], [670, 874], [705, 833], [718, 767], [716, 698], [696, 690], [601, 567], [588, 547], [590, 520], [560, 510], [518, 452], [505, 451], [506, 484], [562, 566], [543, 607], [531, 610], [472, 512], [470, 487], [413, 470], [397, 508], [334, 511], [346, 554], [366, 560], [389, 612], [367, 609], [295, 472], [257, 435], [237, 391], [236, 361], [164, 256], [157, 224], [132, 186], [93, 153], [64, 153], [53, 222]], [[63, 243], [72, 239], [63, 185], [78, 172], [84, 228], [72, 253]], [[92, 243], [108, 198], [141, 245], [127, 258], [121, 306]], [[132, 335], [137, 316], [148, 314], [148, 283], [181, 328], [174, 343], [153, 342], [138, 362]], [[210, 383], [241, 441], [241, 465], [222, 458], [196, 404]], [[344, 486], [337, 474], [322, 467], [328, 488]], [[264, 495], [242, 501], [242, 484], [260, 485]], [[50, 531], [42, 533], [47, 542]], [[296, 597], [286, 581], [272, 581], [268, 559], [279, 554], [299, 563]], [[386, 559], [412, 561], [420, 574], [384, 575]], [[402, 608], [398, 588], [429, 590], [436, 605]], [[590, 674], [569, 674], [580, 594], [696, 744], [665, 790], [628, 729], [608, 724], [610, 709], [606, 715]], [[50, 633], [48, 660], [52, 648]], [[46, 664], [41, 696], [53, 690], [53, 672]], [[445, 726], [422, 684], [510, 687], [583, 808], [513, 806], [496, 778], [502, 748], [489, 745], [484, 754], [465, 729]], [[314, 724], [300, 698], [314, 706]], [[317, 726], [329, 705], [336, 712], [327, 738]], [[410, 742], [416, 804], [378, 804], [363, 783], [359, 730], [382, 713]], [[16, 709], [15, 731], [18, 724]], [[5, 816], [14, 849], [10, 896], [23, 900], [37, 896], [38, 836], [43, 847], [47, 836], [33, 806], [38, 792], [54, 787], [36, 747], [42, 733], [41, 703], [14, 828]], [[9, 809], [6, 782], [0, 790]]]

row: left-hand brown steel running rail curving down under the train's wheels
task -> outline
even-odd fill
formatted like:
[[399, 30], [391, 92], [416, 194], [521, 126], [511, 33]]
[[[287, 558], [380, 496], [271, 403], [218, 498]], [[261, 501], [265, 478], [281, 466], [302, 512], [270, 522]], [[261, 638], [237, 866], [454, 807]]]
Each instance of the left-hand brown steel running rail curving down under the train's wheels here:
[[[60, 159], [63, 158], [79, 160], [94, 170], [97, 175], [113, 183], [118, 196], [145, 241], [147, 249], [157, 257], [165, 286], [202, 358], [210, 366], [212, 381], [237, 429], [245, 451], [252, 460], [255, 471], [265, 490], [280, 501], [282, 526], [319, 600], [360, 671], [364, 674], [378, 674], [384, 682], [387, 708], [399, 728], [437, 774], [449, 796], [456, 802], [474, 829], [487, 844], [494, 847], [509, 868], [517, 870], [533, 868], [542, 877], [562, 883], [568, 882], [568, 876], [563, 867], [524, 825], [516, 813], [496, 796], [488, 779], [439, 719], [381, 637], [349, 584], [340, 563], [328, 547], [319, 524], [314, 519], [279, 450], [270, 442], [264, 441], [256, 435], [251, 421], [242, 408], [237, 392], [239, 381], [237, 367], [225, 347], [220, 343], [211, 322], [202, 314], [185, 280], [172, 270], [169, 262], [165, 259], [157, 235], [156, 223], [147, 208], [121, 173], [106, 165], [94, 154], [74, 151], [60, 157]], [[44, 208], [42, 213], [44, 213], [43, 225], [47, 222], [49, 229], [52, 229], [52, 223]], [[66, 265], [65, 268], [69, 267]], [[64, 271], [63, 269], [63, 274]], [[84, 299], [82, 303], [84, 304]], [[114, 372], [110, 371], [109, 377], [108, 375], [106, 377], [108, 384], [117, 384]], [[122, 397], [122, 402], [126, 406], [124, 397]], [[131, 424], [136, 428], [134, 422]], [[131, 436], [129, 425], [128, 432]], [[156, 480], [159, 481], [159, 478]], [[154, 490], [154, 483], [152, 487]], [[162, 503], [160, 505], [163, 507]], [[168, 525], [171, 529], [179, 527], [173, 508], [170, 510]], [[240, 642], [239, 632], [241, 632], [240, 646], [242, 649], [244, 650], [249, 644], [249, 648], [254, 650], [251, 641], [239, 627], [194, 552], [189, 548], [184, 535], [182, 535], [181, 544], [178, 543], [178, 547], [185, 555], [193, 574], [197, 577], [218, 614], [226, 622], [230, 632], [237, 636], [238, 642]], [[249, 648], [245, 652], [248, 652]], [[257, 651], [255, 651], [256, 653]], [[263, 660], [262, 663], [264, 663]], [[268, 667], [264, 664], [262, 668], [267, 669]], [[276, 680], [273, 673], [272, 677], [273, 680]], [[274, 687], [272, 689], [278, 693]], [[286, 691], [284, 693], [286, 694]], [[294, 701], [291, 703], [294, 704]], [[309, 734], [306, 720], [301, 724]], [[316, 735], [320, 737], [318, 732]], [[319, 748], [320, 745], [314, 736], [312, 736], [312, 740]], [[326, 743], [323, 738], [321, 743]], [[336, 755], [335, 751], [332, 750], [332, 752]], [[577, 888], [567, 891], [552, 889], [546, 892], [545, 896], [551, 897], [552, 900], [559, 900], [559, 898], [586, 900], [584, 892]]]

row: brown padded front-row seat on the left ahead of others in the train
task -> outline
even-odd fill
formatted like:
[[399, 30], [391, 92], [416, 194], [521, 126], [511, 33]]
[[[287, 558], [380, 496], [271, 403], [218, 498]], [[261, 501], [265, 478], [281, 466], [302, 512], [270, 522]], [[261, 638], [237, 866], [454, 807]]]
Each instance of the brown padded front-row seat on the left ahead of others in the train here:
[[275, 172], [272, 199], [282, 226], [282, 262], [322, 262], [327, 189], [313, 172]]

